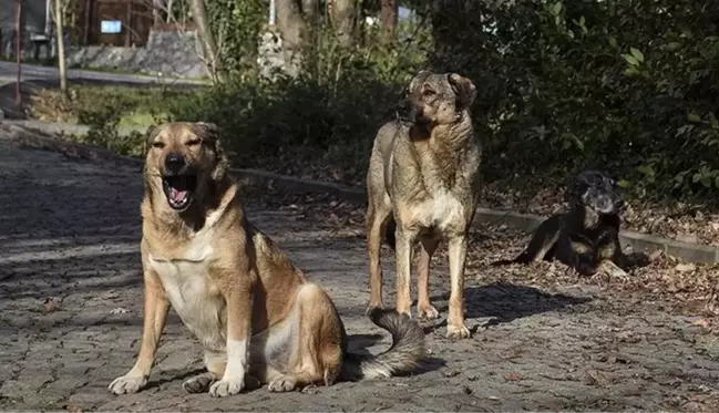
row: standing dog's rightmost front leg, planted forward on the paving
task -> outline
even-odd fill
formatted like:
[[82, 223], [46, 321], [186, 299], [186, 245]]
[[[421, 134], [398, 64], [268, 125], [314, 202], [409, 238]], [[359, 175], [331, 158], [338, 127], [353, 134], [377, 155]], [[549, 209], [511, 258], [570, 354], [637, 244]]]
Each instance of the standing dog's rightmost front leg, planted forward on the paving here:
[[448, 339], [466, 339], [470, 330], [464, 324], [464, 262], [466, 260], [466, 236], [450, 238], [450, 316], [446, 323]]

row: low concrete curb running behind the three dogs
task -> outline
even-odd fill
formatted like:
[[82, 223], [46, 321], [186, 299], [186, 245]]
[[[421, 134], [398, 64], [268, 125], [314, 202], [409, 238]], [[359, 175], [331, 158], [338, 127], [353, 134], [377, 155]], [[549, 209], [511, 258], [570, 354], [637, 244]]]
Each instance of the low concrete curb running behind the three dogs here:
[[[53, 135], [62, 132], [82, 133], [81, 131], [88, 126], [52, 124], [37, 121], [2, 121], [0, 122], [0, 126], [4, 126], [3, 128], [9, 132], [9, 138], [31, 148], [59, 152], [70, 157], [91, 161], [120, 162], [137, 167], [138, 169], [143, 164], [141, 159], [122, 156], [109, 149], [64, 141]], [[302, 179], [259, 169], [235, 168], [230, 169], [230, 172], [255, 184], [274, 185], [275, 187], [295, 193], [331, 194], [355, 204], [363, 205], [367, 203], [367, 195], [363, 188], [321, 180]], [[536, 229], [542, 220], [544, 220], [544, 217], [536, 215], [480, 207], [476, 209], [473, 226], [479, 227], [485, 224], [506, 225], [510, 228], [531, 233]], [[624, 246], [630, 246], [634, 251], [662, 250], [666, 255], [679, 257], [689, 262], [719, 262], [719, 248], [712, 246], [681, 242], [631, 230], [622, 231], [619, 239]]]

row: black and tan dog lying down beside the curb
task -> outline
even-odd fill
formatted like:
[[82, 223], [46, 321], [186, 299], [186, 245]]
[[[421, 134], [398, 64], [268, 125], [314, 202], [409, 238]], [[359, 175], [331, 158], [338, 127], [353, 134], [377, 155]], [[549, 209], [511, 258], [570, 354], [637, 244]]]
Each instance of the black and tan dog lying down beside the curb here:
[[574, 178], [565, 198], [567, 213], [544, 220], [518, 257], [494, 265], [557, 259], [583, 276], [604, 270], [625, 278], [622, 267], [627, 259], [619, 245], [624, 199], [614, 180], [600, 172], [584, 171]]

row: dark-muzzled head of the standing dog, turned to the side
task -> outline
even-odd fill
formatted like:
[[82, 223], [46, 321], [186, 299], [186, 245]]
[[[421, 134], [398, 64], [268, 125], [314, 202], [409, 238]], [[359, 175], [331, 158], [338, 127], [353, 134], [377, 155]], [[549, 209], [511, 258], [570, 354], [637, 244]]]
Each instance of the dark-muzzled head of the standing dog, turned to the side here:
[[456, 123], [475, 96], [476, 87], [466, 78], [422, 71], [410, 82], [398, 118], [421, 125]]

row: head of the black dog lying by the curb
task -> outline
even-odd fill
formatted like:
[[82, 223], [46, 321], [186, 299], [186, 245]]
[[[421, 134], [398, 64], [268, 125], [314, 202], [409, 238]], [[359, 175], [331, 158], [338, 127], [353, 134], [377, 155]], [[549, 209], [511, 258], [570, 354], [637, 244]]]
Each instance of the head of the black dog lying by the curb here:
[[598, 214], [620, 214], [624, 198], [616, 190], [614, 179], [598, 171], [578, 174], [565, 193], [571, 206], [592, 208]]

